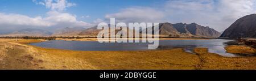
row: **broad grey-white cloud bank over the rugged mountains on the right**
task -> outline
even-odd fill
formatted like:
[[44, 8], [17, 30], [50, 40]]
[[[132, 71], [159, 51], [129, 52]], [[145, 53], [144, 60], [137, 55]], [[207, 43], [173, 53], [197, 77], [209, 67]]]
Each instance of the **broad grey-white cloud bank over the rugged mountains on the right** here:
[[217, 31], [224, 31], [242, 16], [255, 12], [254, 0], [170, 0], [163, 6], [130, 7], [114, 14], [107, 14], [106, 20], [116, 18], [117, 22], [170, 22], [198, 23]]

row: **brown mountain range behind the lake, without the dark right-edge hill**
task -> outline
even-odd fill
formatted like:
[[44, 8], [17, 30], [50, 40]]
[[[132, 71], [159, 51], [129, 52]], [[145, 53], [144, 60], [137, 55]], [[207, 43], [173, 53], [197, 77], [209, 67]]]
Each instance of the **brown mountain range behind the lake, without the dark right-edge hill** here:
[[[110, 25], [109, 25], [110, 26]], [[129, 29], [131, 30], [131, 29]], [[92, 28], [63, 28], [53, 33], [44, 31], [42, 29], [22, 29], [13, 33], [7, 34], [8, 36], [97, 36], [101, 30], [97, 26]], [[115, 33], [121, 29], [115, 30]], [[216, 30], [204, 27], [196, 23], [160, 23], [159, 35], [161, 37], [210, 37], [216, 38], [221, 35]]]

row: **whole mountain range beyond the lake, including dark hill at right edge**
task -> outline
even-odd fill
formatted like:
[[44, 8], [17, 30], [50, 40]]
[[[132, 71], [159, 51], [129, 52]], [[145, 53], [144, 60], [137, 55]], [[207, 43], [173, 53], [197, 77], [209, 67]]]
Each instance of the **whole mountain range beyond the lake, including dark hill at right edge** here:
[[[109, 25], [110, 26], [110, 25]], [[154, 27], [154, 26], [153, 26]], [[54, 30], [52, 30], [54, 31]], [[97, 26], [92, 28], [63, 28], [55, 32], [49, 32], [45, 29], [26, 28], [1, 36], [92, 36], [96, 37], [102, 30], [98, 30]], [[116, 29], [115, 33], [121, 31]], [[131, 29], [129, 29], [129, 32]], [[135, 30], [134, 30], [135, 31]], [[145, 30], [141, 30], [145, 31]], [[247, 37], [256, 38], [256, 14], [246, 15], [236, 20], [228, 29], [218, 32], [210, 27], [205, 27], [196, 23], [160, 23], [160, 37], [208, 37], [208, 38], [237, 38]]]

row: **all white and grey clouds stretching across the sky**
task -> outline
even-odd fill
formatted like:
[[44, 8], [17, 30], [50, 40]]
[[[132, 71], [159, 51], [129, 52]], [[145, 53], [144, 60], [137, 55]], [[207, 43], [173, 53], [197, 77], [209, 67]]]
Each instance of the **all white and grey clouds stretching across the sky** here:
[[[106, 14], [105, 19], [92, 23], [77, 20], [76, 15], [64, 12], [68, 7], [76, 6], [66, 0], [32, 0], [37, 5], [51, 8], [46, 16], [26, 16], [4, 14], [0, 12], [0, 28], [24, 27], [92, 27], [97, 23], [116, 18], [116, 22], [168, 22], [199, 23], [217, 31], [224, 31], [235, 20], [255, 12], [254, 0], [170, 0], [162, 7], [128, 7], [113, 14]], [[82, 18], [89, 18], [85, 15]]]

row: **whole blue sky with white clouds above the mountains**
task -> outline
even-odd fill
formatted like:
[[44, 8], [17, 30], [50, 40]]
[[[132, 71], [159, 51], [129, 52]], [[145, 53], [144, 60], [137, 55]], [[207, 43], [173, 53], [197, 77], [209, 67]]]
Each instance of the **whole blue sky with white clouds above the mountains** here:
[[89, 28], [101, 22], [197, 23], [221, 32], [255, 14], [254, 0], [0, 0], [0, 33]]

